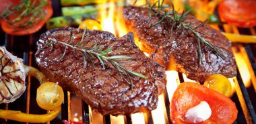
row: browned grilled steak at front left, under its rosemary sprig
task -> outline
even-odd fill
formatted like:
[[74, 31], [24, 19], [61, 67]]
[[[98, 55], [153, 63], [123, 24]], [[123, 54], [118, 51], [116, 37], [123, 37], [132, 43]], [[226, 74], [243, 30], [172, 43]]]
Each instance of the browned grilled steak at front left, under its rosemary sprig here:
[[64, 52], [64, 47], [61, 44], [53, 45], [51, 50], [50, 46], [46, 46], [46, 43], [51, 42], [48, 38], [65, 41], [69, 38], [70, 32], [75, 36], [76, 43], [82, 39], [83, 30], [72, 27], [52, 29], [40, 36], [36, 62], [49, 80], [59, 82], [65, 90], [82, 97], [92, 109], [96, 109], [102, 115], [125, 115], [156, 109], [158, 95], [164, 90], [166, 83], [165, 69], [164, 66], [144, 56], [135, 46], [133, 34], [115, 38], [109, 32], [87, 30], [87, 42], [82, 44], [92, 47], [96, 42], [104, 49], [113, 46], [110, 56], [137, 57], [132, 60], [120, 60], [125, 62], [123, 66], [128, 70], [148, 76], [148, 79], [137, 76], [132, 78], [134, 85], [130, 89], [130, 84], [125, 82], [111, 64], [108, 63], [108, 68], [103, 70], [100, 61], [95, 59], [95, 69], [90, 64], [84, 68], [82, 53], [76, 52], [74, 56], [71, 48], [68, 48], [65, 57], [57, 62]]

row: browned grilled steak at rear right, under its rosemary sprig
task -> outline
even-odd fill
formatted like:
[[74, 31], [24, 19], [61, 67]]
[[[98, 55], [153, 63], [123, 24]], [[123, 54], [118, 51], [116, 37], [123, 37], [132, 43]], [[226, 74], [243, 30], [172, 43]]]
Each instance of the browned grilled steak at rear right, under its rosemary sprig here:
[[[197, 28], [203, 32], [202, 36], [226, 52], [222, 59], [215, 52], [201, 44], [201, 64], [199, 64], [197, 38], [183, 29], [173, 29], [171, 36], [172, 23], [162, 21], [159, 25], [153, 26], [162, 19], [157, 15], [149, 16], [149, 10], [142, 7], [125, 7], [125, 23], [130, 32], [138, 38], [137, 46], [150, 54], [150, 57], [159, 64], [166, 66], [166, 70], [178, 70], [187, 74], [188, 78], [197, 81], [204, 81], [212, 74], [223, 74], [227, 77], [236, 75], [236, 64], [231, 51], [231, 43], [209, 25]], [[187, 19], [187, 22], [197, 21]], [[199, 25], [197, 21], [193, 27]], [[166, 28], [167, 27], [167, 28]]]

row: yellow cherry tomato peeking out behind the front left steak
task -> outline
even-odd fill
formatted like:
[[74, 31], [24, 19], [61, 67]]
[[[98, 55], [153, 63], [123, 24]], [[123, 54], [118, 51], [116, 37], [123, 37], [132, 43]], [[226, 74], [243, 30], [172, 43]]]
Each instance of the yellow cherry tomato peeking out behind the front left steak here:
[[84, 29], [85, 27], [86, 29], [102, 30], [100, 23], [98, 23], [98, 21], [95, 21], [93, 19], [86, 19], [79, 24], [79, 28]]

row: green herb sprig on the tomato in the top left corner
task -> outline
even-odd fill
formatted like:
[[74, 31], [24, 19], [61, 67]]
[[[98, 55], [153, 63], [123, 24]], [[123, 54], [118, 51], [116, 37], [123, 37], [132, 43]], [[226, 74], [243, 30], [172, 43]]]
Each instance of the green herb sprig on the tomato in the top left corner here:
[[[9, 5], [6, 7], [5, 10], [0, 13], [0, 17], [11, 25], [18, 23], [27, 17], [26, 21], [23, 21], [24, 23], [18, 25], [18, 27], [26, 27], [28, 25], [32, 25], [35, 21], [44, 18], [45, 12], [42, 11], [42, 9], [48, 4], [47, 0], [22, 0], [22, 3], [19, 5], [15, 5], [13, 7], [10, 7], [11, 5]], [[9, 19], [9, 15], [16, 13], [19, 13], [19, 15], [15, 17], [15, 19]]]

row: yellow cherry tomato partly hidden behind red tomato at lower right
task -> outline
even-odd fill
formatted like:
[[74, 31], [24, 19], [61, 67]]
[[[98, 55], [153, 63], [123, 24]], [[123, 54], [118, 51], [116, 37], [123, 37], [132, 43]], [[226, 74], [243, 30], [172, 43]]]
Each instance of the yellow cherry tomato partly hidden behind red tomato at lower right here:
[[231, 95], [232, 86], [230, 81], [228, 78], [226, 78], [226, 76], [221, 74], [213, 74], [205, 80], [203, 86], [212, 88], [213, 90], [216, 90], [227, 97], [230, 97]]

